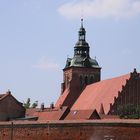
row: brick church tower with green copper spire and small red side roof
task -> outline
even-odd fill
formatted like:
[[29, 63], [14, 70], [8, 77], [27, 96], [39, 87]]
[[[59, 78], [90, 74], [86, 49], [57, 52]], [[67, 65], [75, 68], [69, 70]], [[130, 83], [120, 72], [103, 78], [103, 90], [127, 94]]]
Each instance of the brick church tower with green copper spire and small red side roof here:
[[100, 81], [101, 68], [96, 59], [90, 57], [90, 47], [86, 42], [86, 31], [81, 19], [78, 42], [74, 47], [73, 58], [67, 58], [63, 69], [61, 95], [56, 106], [71, 107], [86, 85]]

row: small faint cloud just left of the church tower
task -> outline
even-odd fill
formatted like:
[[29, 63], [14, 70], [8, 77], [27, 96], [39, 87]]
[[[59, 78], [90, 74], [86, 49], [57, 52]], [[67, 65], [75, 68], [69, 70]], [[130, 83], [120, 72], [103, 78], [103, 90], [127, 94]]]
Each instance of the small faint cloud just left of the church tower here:
[[42, 69], [42, 70], [59, 70], [60, 66], [54, 63], [52, 60], [48, 60], [46, 57], [41, 57], [39, 63], [33, 65], [34, 68]]

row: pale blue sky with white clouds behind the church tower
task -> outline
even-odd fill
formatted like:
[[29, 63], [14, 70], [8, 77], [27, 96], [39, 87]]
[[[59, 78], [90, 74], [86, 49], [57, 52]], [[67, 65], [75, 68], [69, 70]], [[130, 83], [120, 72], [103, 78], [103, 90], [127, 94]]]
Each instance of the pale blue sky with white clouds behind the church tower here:
[[81, 17], [102, 79], [140, 72], [140, 0], [0, 0], [0, 92], [55, 102]]

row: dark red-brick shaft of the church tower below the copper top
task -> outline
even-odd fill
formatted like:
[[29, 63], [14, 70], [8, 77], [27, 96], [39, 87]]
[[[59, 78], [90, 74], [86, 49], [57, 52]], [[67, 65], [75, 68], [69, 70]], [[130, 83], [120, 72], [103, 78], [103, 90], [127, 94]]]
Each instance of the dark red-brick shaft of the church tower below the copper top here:
[[64, 81], [61, 85], [61, 94], [66, 88], [69, 89], [69, 94], [62, 104], [63, 106], [71, 107], [87, 84], [100, 81], [99, 68], [70, 67], [64, 69], [63, 74]]

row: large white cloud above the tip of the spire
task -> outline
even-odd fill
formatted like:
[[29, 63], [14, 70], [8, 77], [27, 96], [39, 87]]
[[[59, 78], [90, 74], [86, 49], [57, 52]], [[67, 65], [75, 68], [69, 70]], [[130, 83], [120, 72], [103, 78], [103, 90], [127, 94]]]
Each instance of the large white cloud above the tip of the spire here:
[[140, 14], [140, 0], [73, 0], [58, 8], [69, 19], [80, 18], [131, 18]]

